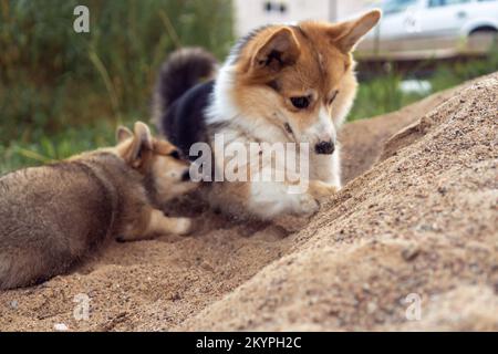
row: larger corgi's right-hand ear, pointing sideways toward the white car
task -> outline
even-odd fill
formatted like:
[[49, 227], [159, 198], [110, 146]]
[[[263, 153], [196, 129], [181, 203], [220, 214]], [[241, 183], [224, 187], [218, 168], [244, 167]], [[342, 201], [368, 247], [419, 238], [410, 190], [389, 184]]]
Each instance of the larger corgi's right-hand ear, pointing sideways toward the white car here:
[[353, 51], [360, 40], [378, 23], [381, 17], [381, 10], [373, 10], [357, 20], [333, 24], [330, 28], [329, 33], [335, 45], [338, 45], [342, 52], [349, 53]]

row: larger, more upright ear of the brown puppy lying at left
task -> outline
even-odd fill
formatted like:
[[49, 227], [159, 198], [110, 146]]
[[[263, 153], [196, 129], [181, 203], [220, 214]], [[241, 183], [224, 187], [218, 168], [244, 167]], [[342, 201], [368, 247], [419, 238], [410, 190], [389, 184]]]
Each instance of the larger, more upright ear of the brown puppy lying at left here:
[[125, 145], [120, 152], [123, 159], [134, 168], [145, 167], [154, 146], [148, 126], [142, 122], [135, 123], [133, 139]]

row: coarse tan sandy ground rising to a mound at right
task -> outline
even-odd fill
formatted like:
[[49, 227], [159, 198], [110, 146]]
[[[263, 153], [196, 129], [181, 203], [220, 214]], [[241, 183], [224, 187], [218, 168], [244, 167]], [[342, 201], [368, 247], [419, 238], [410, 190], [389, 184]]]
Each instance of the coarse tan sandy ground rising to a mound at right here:
[[198, 206], [190, 238], [0, 292], [0, 330], [498, 330], [497, 132], [498, 74], [346, 125], [349, 184], [299, 230]]

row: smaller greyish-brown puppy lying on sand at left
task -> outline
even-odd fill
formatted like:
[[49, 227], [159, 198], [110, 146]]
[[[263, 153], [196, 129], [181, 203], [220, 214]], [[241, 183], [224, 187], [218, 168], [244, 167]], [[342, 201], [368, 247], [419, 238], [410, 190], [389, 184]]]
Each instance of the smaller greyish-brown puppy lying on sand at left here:
[[65, 273], [106, 239], [186, 235], [162, 204], [196, 188], [175, 146], [136, 123], [117, 146], [0, 178], [0, 289]]

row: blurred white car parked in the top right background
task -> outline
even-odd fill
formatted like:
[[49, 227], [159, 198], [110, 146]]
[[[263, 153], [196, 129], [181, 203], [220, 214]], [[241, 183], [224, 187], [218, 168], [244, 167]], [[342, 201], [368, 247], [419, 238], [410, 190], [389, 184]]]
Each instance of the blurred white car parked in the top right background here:
[[383, 20], [360, 44], [365, 59], [479, 54], [498, 33], [498, 0], [386, 0]]

